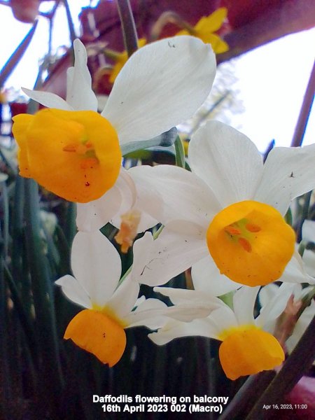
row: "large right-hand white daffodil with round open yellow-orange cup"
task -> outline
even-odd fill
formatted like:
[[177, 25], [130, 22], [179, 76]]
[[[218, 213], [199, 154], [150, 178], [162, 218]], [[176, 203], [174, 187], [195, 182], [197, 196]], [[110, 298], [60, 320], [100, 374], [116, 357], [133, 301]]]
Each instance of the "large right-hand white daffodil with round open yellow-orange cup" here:
[[148, 244], [142, 281], [153, 284], [157, 269], [163, 284], [191, 265], [208, 281], [215, 265], [248, 286], [276, 281], [285, 270], [287, 278], [300, 272], [295, 234], [283, 216], [290, 200], [315, 187], [315, 145], [274, 148], [263, 165], [244, 134], [210, 121], [192, 137], [188, 158], [193, 172], [168, 165], [130, 169], [137, 190], [151, 193], [141, 206], [165, 225]]

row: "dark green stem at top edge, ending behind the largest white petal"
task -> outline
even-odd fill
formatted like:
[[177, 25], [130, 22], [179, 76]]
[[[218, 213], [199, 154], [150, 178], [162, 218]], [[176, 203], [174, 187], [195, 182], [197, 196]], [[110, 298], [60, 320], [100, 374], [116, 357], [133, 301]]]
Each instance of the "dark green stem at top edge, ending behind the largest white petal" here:
[[138, 49], [138, 36], [129, 0], [116, 0], [128, 57]]

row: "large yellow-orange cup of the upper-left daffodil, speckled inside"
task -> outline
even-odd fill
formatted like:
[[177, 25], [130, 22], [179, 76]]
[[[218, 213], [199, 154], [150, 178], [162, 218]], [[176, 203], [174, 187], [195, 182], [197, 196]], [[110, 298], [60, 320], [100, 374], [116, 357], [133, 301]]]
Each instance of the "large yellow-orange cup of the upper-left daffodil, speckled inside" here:
[[118, 177], [116, 130], [94, 111], [43, 109], [14, 117], [20, 174], [72, 202], [102, 197]]

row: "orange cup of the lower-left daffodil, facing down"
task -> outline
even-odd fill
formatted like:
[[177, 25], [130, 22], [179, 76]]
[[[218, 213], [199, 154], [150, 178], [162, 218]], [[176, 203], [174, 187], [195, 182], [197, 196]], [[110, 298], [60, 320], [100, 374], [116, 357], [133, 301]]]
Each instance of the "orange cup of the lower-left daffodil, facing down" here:
[[126, 346], [123, 326], [104, 311], [94, 309], [84, 309], [71, 319], [64, 332], [64, 339], [69, 338], [109, 367], [118, 363]]

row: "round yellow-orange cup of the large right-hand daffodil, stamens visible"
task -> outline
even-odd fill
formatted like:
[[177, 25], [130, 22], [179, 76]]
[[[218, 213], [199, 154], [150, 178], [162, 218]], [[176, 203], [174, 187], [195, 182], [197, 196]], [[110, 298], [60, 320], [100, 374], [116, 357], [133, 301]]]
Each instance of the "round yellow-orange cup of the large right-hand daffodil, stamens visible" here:
[[249, 200], [225, 207], [207, 230], [209, 252], [221, 274], [247, 286], [279, 279], [294, 244], [295, 233], [279, 211]]

